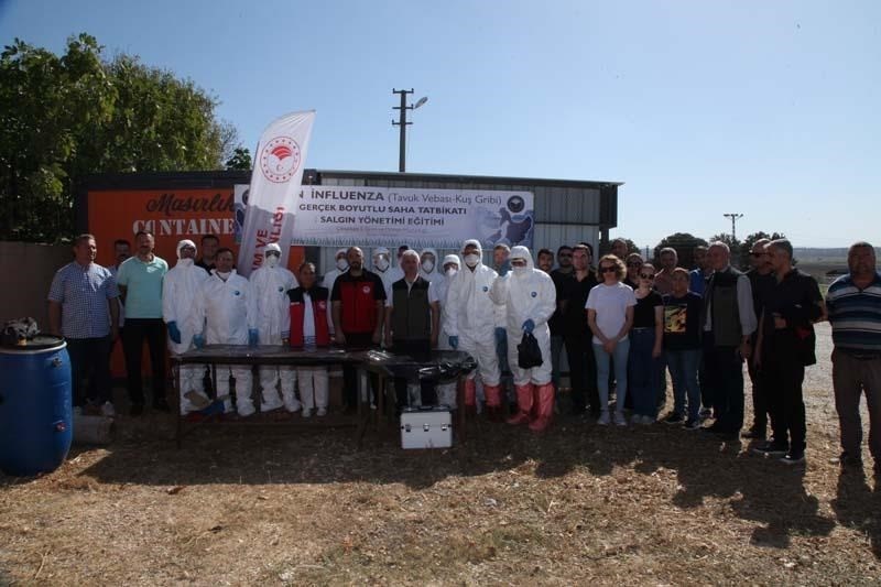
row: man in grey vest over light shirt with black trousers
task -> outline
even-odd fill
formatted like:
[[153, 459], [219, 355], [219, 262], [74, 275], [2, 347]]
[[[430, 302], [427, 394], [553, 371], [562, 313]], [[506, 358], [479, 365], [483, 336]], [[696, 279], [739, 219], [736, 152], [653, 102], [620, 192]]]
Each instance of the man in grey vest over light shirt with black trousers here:
[[707, 391], [716, 422], [704, 428], [726, 439], [737, 439], [743, 426], [743, 361], [752, 349], [757, 327], [750, 280], [731, 267], [725, 242], [714, 242], [707, 253], [713, 276], [707, 283], [701, 315]]

